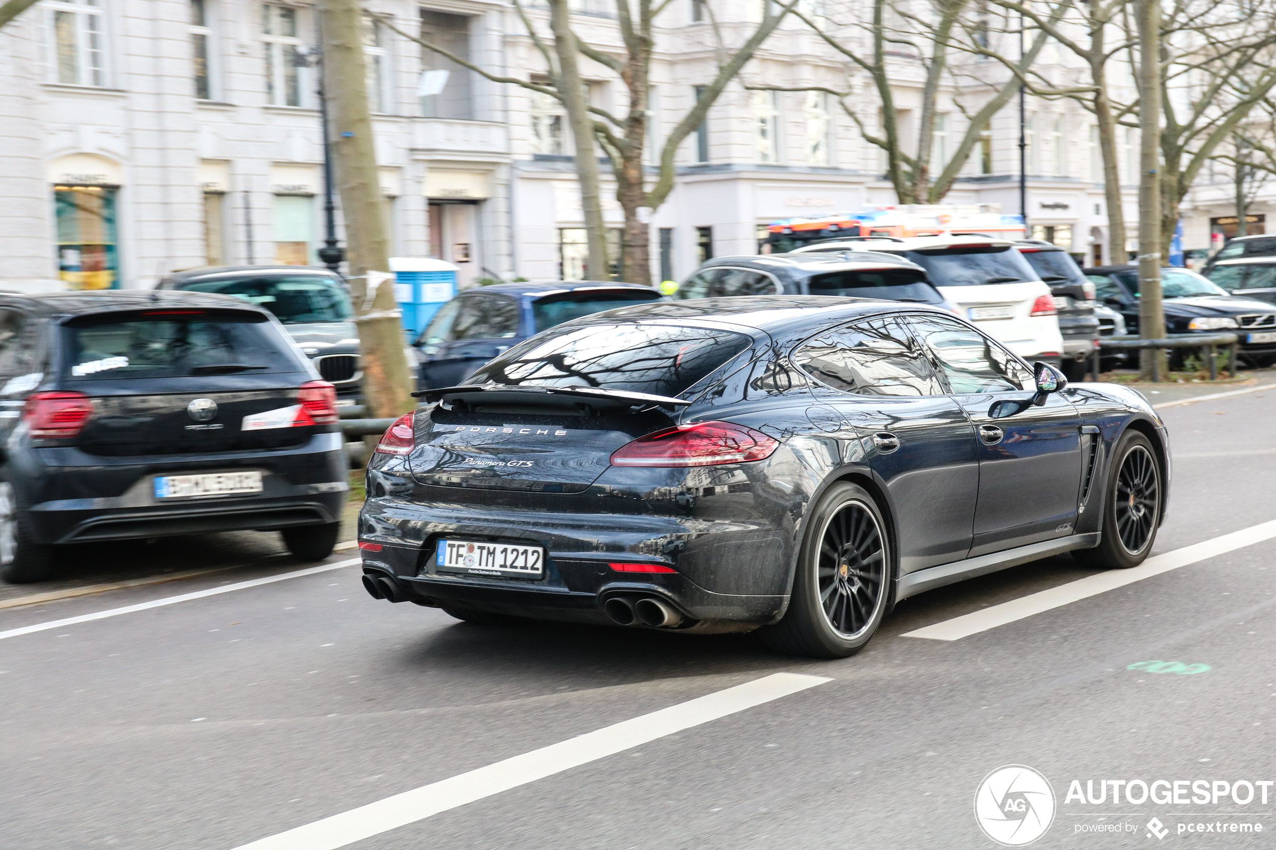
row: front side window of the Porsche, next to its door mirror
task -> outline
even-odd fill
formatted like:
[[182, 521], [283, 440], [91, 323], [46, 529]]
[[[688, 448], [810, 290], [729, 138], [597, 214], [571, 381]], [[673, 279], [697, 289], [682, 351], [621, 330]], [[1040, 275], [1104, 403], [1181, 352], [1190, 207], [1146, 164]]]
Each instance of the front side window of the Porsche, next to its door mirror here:
[[1032, 373], [974, 328], [943, 316], [914, 316], [911, 322], [953, 393], [1008, 393], [1032, 386]]

